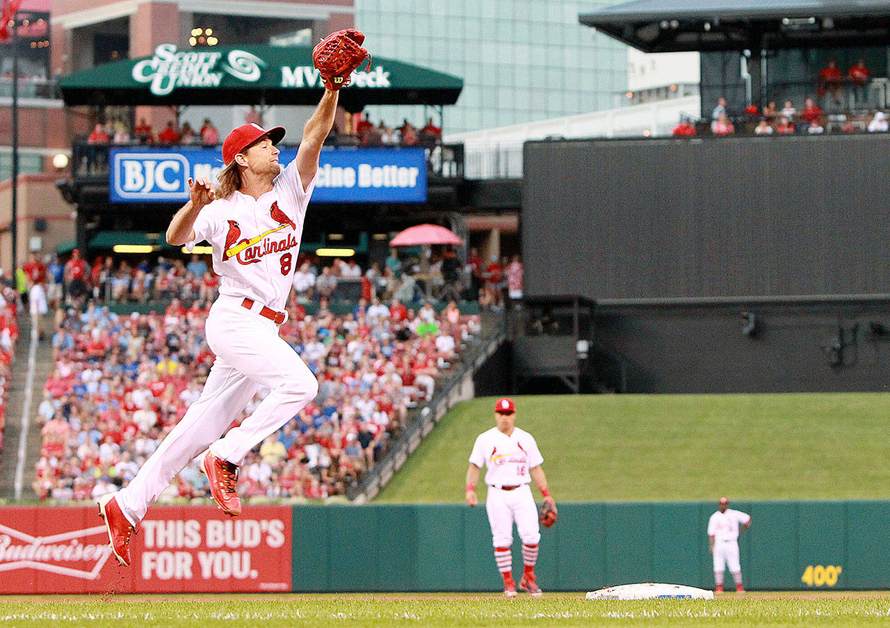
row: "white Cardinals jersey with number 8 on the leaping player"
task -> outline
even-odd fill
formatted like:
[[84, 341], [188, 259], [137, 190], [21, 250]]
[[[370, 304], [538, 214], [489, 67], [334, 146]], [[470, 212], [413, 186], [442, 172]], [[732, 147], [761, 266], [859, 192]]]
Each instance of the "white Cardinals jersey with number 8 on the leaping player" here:
[[[214, 272], [222, 276], [220, 294], [248, 297], [282, 310], [300, 252], [303, 219], [315, 179], [303, 190], [296, 159], [282, 168], [270, 192], [259, 199], [234, 192], [202, 208], [195, 220], [196, 242], [213, 245]], [[233, 246], [249, 246], [234, 252]]]

